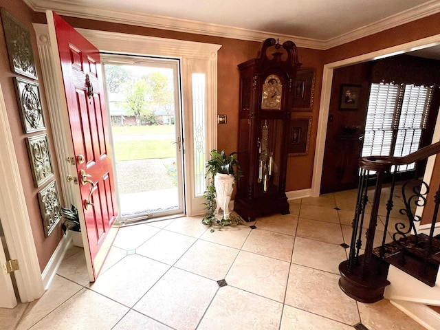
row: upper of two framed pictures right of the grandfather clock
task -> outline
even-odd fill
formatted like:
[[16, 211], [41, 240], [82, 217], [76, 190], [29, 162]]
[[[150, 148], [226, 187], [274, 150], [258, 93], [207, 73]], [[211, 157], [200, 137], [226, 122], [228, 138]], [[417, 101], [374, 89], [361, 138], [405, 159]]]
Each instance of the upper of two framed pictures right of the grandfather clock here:
[[293, 111], [311, 111], [314, 106], [315, 69], [300, 67], [294, 83]]

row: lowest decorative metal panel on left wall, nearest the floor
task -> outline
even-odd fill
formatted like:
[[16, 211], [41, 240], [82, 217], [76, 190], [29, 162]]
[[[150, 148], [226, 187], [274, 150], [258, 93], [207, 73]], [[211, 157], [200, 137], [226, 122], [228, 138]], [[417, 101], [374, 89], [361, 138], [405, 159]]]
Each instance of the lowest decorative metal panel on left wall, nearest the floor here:
[[56, 224], [61, 220], [61, 206], [56, 189], [56, 181], [52, 181], [39, 193], [41, 217], [43, 219], [44, 234], [49, 236]]

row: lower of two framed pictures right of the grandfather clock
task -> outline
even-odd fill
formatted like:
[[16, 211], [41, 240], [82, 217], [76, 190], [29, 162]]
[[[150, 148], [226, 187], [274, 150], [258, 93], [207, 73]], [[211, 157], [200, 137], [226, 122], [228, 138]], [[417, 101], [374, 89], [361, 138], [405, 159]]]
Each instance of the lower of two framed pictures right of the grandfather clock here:
[[289, 156], [307, 155], [309, 153], [311, 117], [293, 118], [290, 122]]

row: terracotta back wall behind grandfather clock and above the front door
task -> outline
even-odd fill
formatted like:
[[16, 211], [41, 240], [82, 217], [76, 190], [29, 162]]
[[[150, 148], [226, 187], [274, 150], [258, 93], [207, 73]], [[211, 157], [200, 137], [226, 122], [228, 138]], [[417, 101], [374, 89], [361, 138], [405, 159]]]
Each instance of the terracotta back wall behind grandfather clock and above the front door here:
[[[253, 41], [240, 41], [235, 39], [218, 38], [214, 36], [201, 36], [197, 34], [186, 34], [142, 28], [133, 25], [122, 25], [85, 19], [63, 17], [74, 28], [87, 28], [112, 32], [130, 34], [141, 34], [157, 36], [169, 39], [181, 39], [187, 41], [198, 41], [203, 43], [215, 43], [221, 45], [218, 54], [218, 113], [228, 116], [227, 124], [218, 126], [217, 147], [224, 149], [227, 153], [236, 151], [238, 146], [238, 117], [239, 117], [239, 72], [237, 65], [255, 58], [260, 49], [260, 43]], [[38, 23], [45, 23], [45, 15], [36, 13]], [[276, 36], [274, 36], [276, 38]], [[316, 69], [316, 86], [314, 95], [314, 109], [311, 112], [294, 113], [296, 117], [311, 116], [312, 129], [309, 153], [305, 156], [289, 157], [287, 165], [286, 190], [298, 190], [310, 188], [314, 164], [314, 148], [316, 145], [316, 131], [318, 128], [318, 111], [320, 100], [320, 85], [322, 82], [322, 56], [320, 50], [298, 48], [298, 57], [303, 67]]]

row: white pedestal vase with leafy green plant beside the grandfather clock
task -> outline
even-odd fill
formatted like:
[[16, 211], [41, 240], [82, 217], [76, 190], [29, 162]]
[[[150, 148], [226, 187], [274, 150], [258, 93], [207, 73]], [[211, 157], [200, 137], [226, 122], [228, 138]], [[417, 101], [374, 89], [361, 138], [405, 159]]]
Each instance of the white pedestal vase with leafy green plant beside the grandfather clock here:
[[[225, 225], [235, 225], [241, 222], [239, 217], [231, 217], [229, 202], [231, 200], [234, 183], [241, 177], [239, 161], [236, 153], [226, 155], [225, 151], [212, 150], [211, 159], [206, 162], [205, 177], [208, 177], [208, 186], [203, 195], [206, 199], [206, 214], [202, 219], [205, 225], [218, 225], [219, 229]], [[219, 210], [223, 215], [219, 215]], [[213, 229], [211, 230], [213, 231]]]

